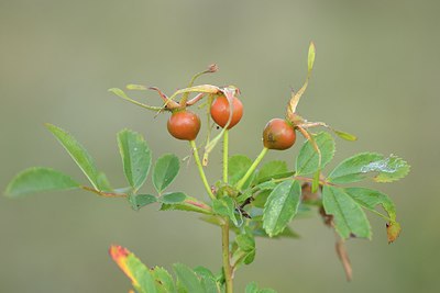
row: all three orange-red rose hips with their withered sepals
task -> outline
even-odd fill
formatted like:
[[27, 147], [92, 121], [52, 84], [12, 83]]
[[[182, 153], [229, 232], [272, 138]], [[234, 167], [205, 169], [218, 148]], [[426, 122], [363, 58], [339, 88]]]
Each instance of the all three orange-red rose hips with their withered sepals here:
[[[271, 120], [263, 131], [263, 145], [264, 153], [268, 149], [277, 149], [284, 150], [290, 148], [296, 140], [296, 131], [299, 131], [301, 135], [309, 139], [312, 144], [315, 150], [319, 157], [319, 165], [321, 161], [321, 153], [314, 139], [314, 135], [308, 132], [308, 128], [311, 127], [326, 127], [333, 131], [338, 136], [348, 139], [355, 140], [356, 137], [333, 129], [329, 125], [322, 122], [308, 122], [296, 113], [296, 108], [299, 103], [299, 100], [302, 93], [306, 91], [308, 81], [311, 75], [311, 70], [315, 61], [315, 45], [310, 43], [309, 53], [308, 53], [308, 71], [307, 78], [302, 87], [297, 91], [292, 91], [292, 98], [287, 104], [287, 111], [285, 119], [273, 119]], [[200, 84], [194, 86], [195, 80], [205, 74], [216, 72], [218, 70], [217, 65], [211, 65], [208, 70], [199, 72], [193, 77], [187, 88], [182, 89], [173, 93], [173, 95], [167, 97], [160, 89], [152, 87], [146, 88], [140, 84], [129, 84], [127, 88], [129, 90], [155, 90], [162, 98], [164, 104], [162, 106], [151, 106], [147, 104], [143, 104], [139, 101], [132, 100], [129, 98], [122, 90], [120, 89], [110, 89], [113, 93], [118, 94], [124, 100], [128, 100], [136, 105], [146, 108], [148, 110], [153, 110], [156, 112], [167, 111], [170, 112], [170, 116], [167, 122], [167, 129], [169, 134], [183, 140], [189, 140], [191, 144], [196, 139], [199, 131], [200, 131], [200, 119], [199, 116], [187, 110], [187, 108], [195, 105], [197, 102], [201, 101], [205, 97], [207, 97], [207, 105], [209, 109], [209, 117], [211, 117], [217, 125], [219, 125], [222, 132], [211, 142], [207, 142], [206, 146], [206, 155], [217, 144], [218, 139], [221, 135], [224, 134], [228, 129], [234, 127], [243, 116], [243, 104], [240, 99], [237, 97], [240, 94], [240, 90], [235, 87], [226, 87], [219, 88], [211, 84]], [[189, 99], [189, 94], [196, 93], [196, 97]], [[175, 101], [176, 97], [182, 95], [180, 100]], [[209, 137], [208, 137], [209, 138]], [[206, 165], [207, 158], [204, 157], [204, 165]]]

